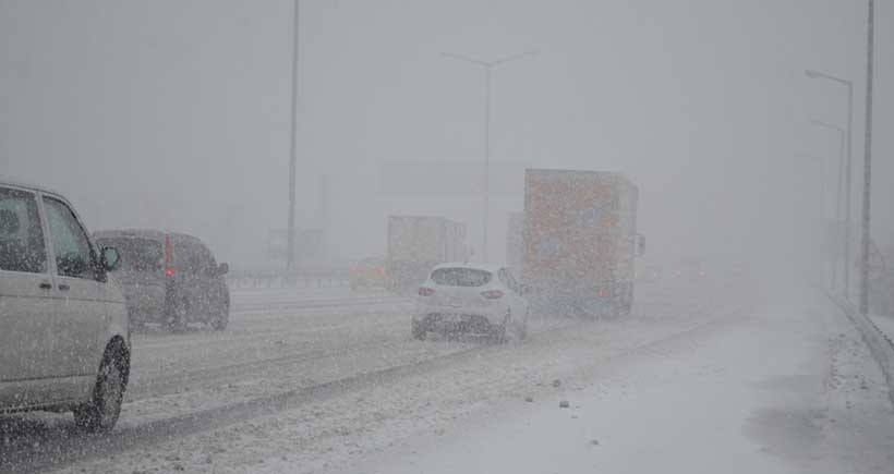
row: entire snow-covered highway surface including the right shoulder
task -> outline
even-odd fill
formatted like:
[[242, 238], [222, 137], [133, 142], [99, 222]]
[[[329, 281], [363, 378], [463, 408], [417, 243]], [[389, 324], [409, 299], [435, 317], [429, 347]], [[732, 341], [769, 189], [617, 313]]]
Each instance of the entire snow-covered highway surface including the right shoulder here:
[[533, 321], [507, 345], [413, 341], [410, 303], [384, 294], [234, 292], [224, 332], [134, 338], [112, 436], [0, 417], [0, 471], [891, 472], [846, 319], [737, 288], [642, 285], [629, 317]]

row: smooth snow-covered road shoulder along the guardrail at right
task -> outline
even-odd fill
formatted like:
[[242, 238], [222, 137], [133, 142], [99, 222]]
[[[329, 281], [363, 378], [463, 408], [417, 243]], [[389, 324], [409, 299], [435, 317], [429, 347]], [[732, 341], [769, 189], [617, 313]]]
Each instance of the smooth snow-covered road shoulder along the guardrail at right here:
[[345, 472], [894, 472], [884, 378], [846, 317], [817, 300], [742, 323]]

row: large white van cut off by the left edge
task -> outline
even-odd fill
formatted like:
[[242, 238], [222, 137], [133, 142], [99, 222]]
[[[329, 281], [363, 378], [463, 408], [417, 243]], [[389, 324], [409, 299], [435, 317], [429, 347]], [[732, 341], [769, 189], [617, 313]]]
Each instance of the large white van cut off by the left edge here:
[[120, 256], [59, 194], [0, 182], [0, 413], [72, 411], [114, 427], [130, 374]]

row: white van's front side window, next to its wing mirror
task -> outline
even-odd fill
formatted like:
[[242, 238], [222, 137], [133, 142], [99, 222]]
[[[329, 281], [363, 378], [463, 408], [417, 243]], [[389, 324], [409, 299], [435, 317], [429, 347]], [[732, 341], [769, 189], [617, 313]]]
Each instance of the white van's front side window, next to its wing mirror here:
[[56, 269], [62, 277], [94, 278], [96, 276], [93, 252], [87, 234], [69, 206], [60, 200], [45, 197], [50, 242], [56, 253]]

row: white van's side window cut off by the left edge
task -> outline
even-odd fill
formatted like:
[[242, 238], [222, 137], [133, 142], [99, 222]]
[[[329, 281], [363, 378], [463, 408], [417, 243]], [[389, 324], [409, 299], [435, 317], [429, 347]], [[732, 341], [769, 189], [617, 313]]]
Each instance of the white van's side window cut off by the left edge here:
[[47, 248], [34, 194], [0, 187], [0, 270], [47, 272]]

